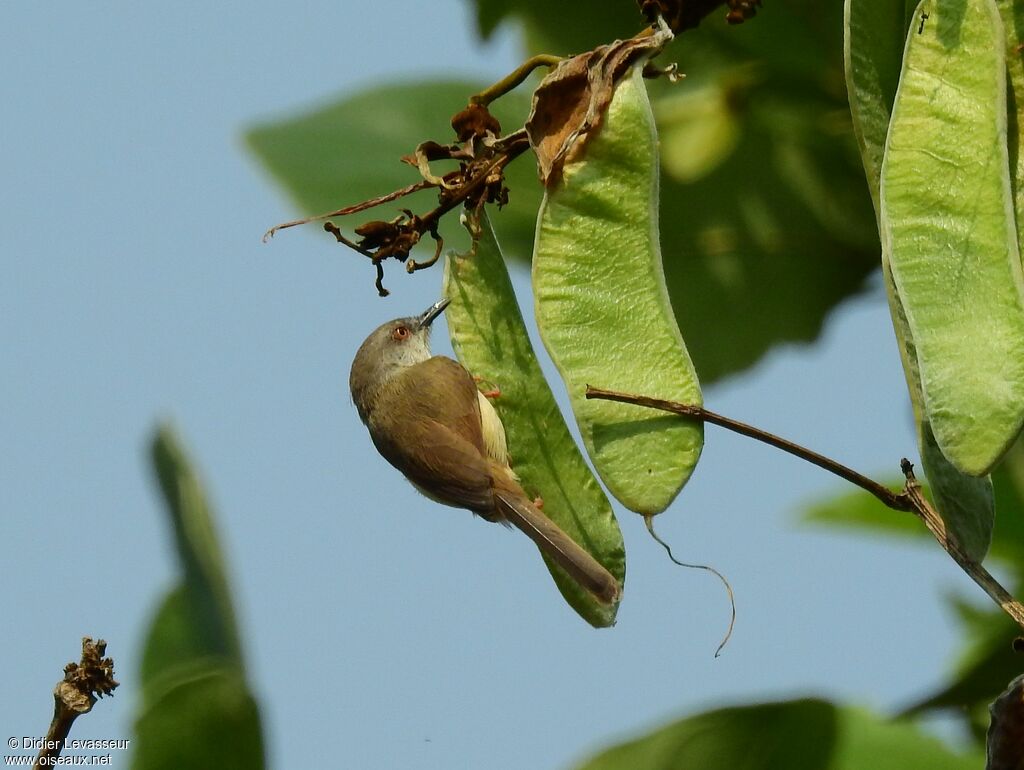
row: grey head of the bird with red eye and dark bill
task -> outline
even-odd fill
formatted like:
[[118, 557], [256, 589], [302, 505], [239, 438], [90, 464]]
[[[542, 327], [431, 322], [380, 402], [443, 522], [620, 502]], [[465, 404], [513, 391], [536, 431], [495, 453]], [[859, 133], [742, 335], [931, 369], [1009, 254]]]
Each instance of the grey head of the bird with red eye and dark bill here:
[[419, 315], [381, 324], [359, 345], [348, 375], [348, 386], [359, 417], [367, 413], [381, 385], [408, 367], [430, 357], [430, 325], [451, 300], [442, 299]]

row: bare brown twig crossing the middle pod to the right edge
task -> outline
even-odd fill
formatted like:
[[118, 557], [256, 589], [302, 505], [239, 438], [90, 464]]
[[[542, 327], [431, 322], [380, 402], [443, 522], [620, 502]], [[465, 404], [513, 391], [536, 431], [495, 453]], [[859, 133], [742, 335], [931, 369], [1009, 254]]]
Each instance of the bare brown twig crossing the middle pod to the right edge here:
[[889, 508], [896, 511], [909, 511], [920, 518], [928, 531], [938, 542], [942, 549], [952, 557], [959, 567], [977, 583], [981, 589], [991, 597], [992, 601], [1002, 608], [1002, 611], [1010, 615], [1018, 626], [1024, 629], [1024, 605], [1017, 601], [1009, 591], [999, 585], [991, 573], [985, 569], [978, 561], [972, 559], [956, 542], [956, 540], [946, 530], [942, 517], [932, 507], [921, 490], [921, 484], [913, 475], [913, 465], [906, 459], [900, 463], [903, 474], [906, 477], [906, 485], [902, 491], [893, 491], [883, 486], [878, 481], [868, 478], [856, 471], [847, 468], [845, 465], [829, 458], [812, 452], [800, 444], [788, 441], [767, 431], [755, 428], [746, 423], [723, 417], [702, 407], [691, 403], [680, 403], [679, 401], [669, 401], [663, 398], [651, 398], [644, 395], [633, 395], [631, 393], [621, 393], [614, 390], [605, 390], [587, 386], [587, 398], [601, 398], [608, 401], [618, 401], [621, 403], [633, 403], [638, 407], [671, 412], [689, 420], [712, 423], [720, 427], [731, 430], [734, 433], [755, 438], [758, 441], [775, 446], [783, 452], [806, 460], [807, 462], [822, 468], [829, 473], [835, 473], [841, 478], [856, 484], [865, 491], [870, 493], [881, 500]]

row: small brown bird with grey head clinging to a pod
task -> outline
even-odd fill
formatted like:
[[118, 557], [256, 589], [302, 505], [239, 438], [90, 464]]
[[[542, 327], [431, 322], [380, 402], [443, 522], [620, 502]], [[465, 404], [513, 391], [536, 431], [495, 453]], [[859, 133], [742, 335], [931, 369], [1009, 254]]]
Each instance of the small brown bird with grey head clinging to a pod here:
[[520, 485], [505, 427], [473, 376], [431, 354], [431, 324], [449, 303], [382, 324], [355, 353], [349, 388], [374, 446], [426, 497], [515, 526], [598, 601], [617, 603], [618, 581]]

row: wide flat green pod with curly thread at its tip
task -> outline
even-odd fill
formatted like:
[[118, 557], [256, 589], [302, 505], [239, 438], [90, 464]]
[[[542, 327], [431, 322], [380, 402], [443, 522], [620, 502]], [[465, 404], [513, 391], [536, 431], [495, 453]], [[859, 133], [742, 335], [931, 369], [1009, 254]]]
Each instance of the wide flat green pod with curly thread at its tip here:
[[541, 205], [534, 295], [544, 343], [568, 388], [602, 480], [641, 514], [664, 511], [700, 457], [703, 426], [585, 398], [588, 384], [701, 403], [665, 286], [657, 136], [640, 66]]

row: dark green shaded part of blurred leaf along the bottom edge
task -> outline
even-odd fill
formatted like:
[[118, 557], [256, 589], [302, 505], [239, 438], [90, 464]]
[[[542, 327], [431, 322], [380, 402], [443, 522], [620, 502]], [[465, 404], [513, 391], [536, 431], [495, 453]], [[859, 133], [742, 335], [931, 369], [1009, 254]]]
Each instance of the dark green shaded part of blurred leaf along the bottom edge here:
[[608, 748], [577, 770], [826, 770], [836, 708], [823, 700], [720, 709]]

